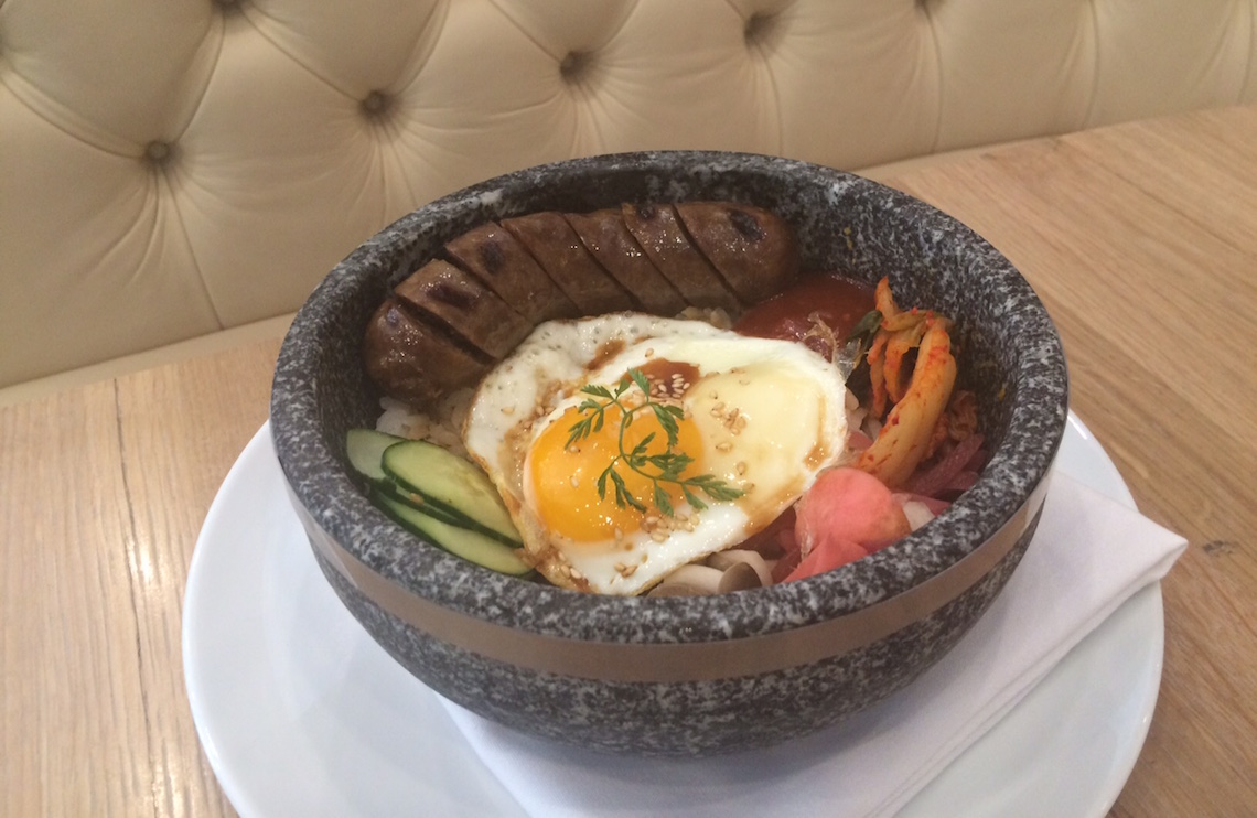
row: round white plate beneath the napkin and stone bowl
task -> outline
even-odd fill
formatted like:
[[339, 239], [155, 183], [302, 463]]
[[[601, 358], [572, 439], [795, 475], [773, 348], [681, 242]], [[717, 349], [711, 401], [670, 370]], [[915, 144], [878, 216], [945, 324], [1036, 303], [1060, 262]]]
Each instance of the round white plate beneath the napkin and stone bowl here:
[[[1073, 415], [1060, 469], [1134, 500]], [[1148, 734], [1160, 586], [1070, 652], [901, 818], [1104, 815]], [[196, 730], [241, 815], [522, 815], [446, 715], [346, 611], [314, 563], [266, 426], [228, 474], [192, 555], [184, 671]]]

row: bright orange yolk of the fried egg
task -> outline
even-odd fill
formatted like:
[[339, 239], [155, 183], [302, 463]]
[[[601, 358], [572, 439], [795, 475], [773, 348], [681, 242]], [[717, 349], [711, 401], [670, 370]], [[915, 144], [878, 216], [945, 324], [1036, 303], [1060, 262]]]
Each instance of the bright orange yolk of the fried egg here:
[[[667, 451], [667, 434], [649, 408], [634, 412], [631, 422], [625, 426], [621, 408], [610, 406], [603, 411], [602, 428], [567, 446], [572, 427], [583, 417], [577, 407], [572, 407], [537, 436], [528, 455], [528, 476], [542, 524], [573, 542], [592, 543], [636, 532], [641, 529], [646, 514], [657, 514], [652, 499], [655, 488], [647, 475], [657, 475], [659, 469], [647, 462], [642, 466], [647, 474], [639, 474], [620, 455], [634, 451], [651, 434], [654, 437], [646, 445], [646, 455], [664, 454]], [[676, 425], [678, 441], [672, 452], [694, 457], [680, 476], [703, 474], [703, 439], [698, 426], [688, 417], [678, 418]], [[627, 504], [618, 505], [610, 477], [606, 496], [598, 496], [598, 477], [612, 461], [626, 491], [646, 506], [646, 514]], [[684, 503], [680, 489], [664, 483], [660, 486], [667, 491], [672, 508], [680, 508]]]

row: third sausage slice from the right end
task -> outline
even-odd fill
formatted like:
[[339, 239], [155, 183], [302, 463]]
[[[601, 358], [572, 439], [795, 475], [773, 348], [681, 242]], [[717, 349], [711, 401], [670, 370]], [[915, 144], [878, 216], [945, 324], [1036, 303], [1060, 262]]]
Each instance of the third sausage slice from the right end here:
[[675, 315], [688, 307], [681, 294], [628, 232], [620, 210], [563, 215], [590, 255], [621, 286], [632, 293], [646, 312]]

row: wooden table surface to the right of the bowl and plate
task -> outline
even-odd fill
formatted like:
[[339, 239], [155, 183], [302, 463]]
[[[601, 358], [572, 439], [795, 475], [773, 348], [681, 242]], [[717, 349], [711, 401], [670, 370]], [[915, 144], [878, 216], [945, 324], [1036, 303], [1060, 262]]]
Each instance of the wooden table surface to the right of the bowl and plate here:
[[891, 183], [1040, 293], [1071, 403], [1140, 510], [1188, 538], [1165, 670], [1111, 814], [1257, 814], [1257, 108], [1043, 139]]

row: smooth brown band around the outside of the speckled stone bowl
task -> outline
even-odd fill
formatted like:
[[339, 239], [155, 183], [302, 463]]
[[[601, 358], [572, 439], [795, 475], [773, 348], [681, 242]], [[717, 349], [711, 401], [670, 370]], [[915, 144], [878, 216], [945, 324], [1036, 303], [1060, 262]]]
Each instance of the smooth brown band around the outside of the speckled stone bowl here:
[[679, 682], [776, 672], [838, 656], [916, 622], [968, 591], [1003, 559], [1042, 506], [1046, 484], [985, 543], [950, 568], [884, 602], [779, 633], [694, 643], [622, 643], [532, 633], [442, 608], [385, 579], [294, 506], [314, 548], [367, 599], [437, 640], [544, 673], [617, 682]]

